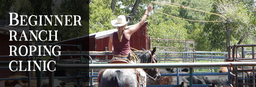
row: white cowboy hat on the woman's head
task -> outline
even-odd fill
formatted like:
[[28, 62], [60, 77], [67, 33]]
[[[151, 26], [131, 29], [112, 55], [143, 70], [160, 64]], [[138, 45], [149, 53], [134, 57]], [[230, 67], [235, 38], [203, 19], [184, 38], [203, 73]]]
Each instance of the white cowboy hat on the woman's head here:
[[129, 22], [129, 19], [128, 19], [128, 21], [126, 21], [125, 15], [119, 15], [117, 17], [117, 20], [111, 21], [111, 24], [113, 26], [123, 26], [123, 25], [127, 24], [128, 22]]

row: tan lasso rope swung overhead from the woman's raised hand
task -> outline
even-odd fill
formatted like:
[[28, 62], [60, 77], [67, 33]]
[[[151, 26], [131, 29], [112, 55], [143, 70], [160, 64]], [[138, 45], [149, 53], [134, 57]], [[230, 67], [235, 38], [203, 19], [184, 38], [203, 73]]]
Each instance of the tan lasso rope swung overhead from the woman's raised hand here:
[[[222, 18], [224, 18], [224, 20], [220, 20], [220, 21], [199, 21], [199, 20], [190, 20], [190, 19], [184, 19], [184, 18], [179, 18], [179, 17], [175, 17], [175, 16], [172, 16], [170, 14], [166, 14], [166, 13], [163, 13], [163, 12], [159, 12], [159, 11], [156, 11], [156, 10], [153, 10], [152, 11], [155, 11], [155, 12], [158, 12], [158, 13], [162, 13], [162, 14], [165, 14], [165, 15], [168, 15], [170, 17], [174, 17], [174, 18], [178, 18], [178, 19], [183, 19], [183, 20], [187, 20], [187, 21], [196, 21], [196, 22], [222, 22], [222, 21], [225, 21], [226, 20], [226, 17], [220, 15], [220, 14], [217, 14], [217, 13], [212, 13], [212, 12], [207, 12], [207, 11], [203, 11], [203, 10], [198, 10], [198, 9], [193, 9], [193, 8], [189, 8], [189, 7], [184, 7], [180, 4], [177, 4], [177, 3], [170, 3], [170, 2], [165, 2], [165, 3], [162, 3], [162, 2], [153, 2], [153, 3], [158, 3], [158, 4], [164, 4], [164, 5], [168, 5], [168, 6], [173, 6], [173, 7], [180, 7], [180, 8], [186, 8], [186, 9], [191, 9], [191, 10], [195, 10], [195, 11], [200, 11], [200, 12], [204, 12], [204, 13], [209, 13], [209, 14], [213, 14], [213, 15], [217, 15], [217, 16], [220, 16]], [[151, 3], [151, 4], [153, 4]], [[173, 4], [173, 5], [172, 5]], [[152, 14], [152, 27], [153, 27], [153, 31], [154, 31], [154, 36], [155, 36], [155, 30], [154, 30], [154, 23], [153, 23], [153, 12], [151, 12]]]

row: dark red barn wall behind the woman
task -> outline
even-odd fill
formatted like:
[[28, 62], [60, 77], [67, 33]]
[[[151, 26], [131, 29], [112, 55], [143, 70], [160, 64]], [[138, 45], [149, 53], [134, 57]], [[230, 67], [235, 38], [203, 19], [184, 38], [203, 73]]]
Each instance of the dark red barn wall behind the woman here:
[[[130, 38], [130, 47], [133, 47], [137, 50], [142, 50], [140, 46], [148, 50], [148, 36], [147, 36], [147, 24], [148, 22], [145, 22], [138, 31], [133, 33]], [[131, 25], [133, 26], [133, 25]], [[128, 26], [131, 27], [131, 26]], [[95, 39], [95, 47], [96, 51], [105, 51], [105, 47], [108, 47], [109, 44], [109, 35], [106, 34], [106, 36], [102, 36], [104, 38]], [[100, 36], [97, 36], [100, 37]], [[90, 44], [94, 44], [94, 42], [89, 42]], [[131, 49], [133, 50], [133, 49]], [[92, 51], [92, 50], [90, 50]], [[96, 56], [96, 58], [104, 58], [105, 56]], [[113, 56], [109, 55], [108, 59], [111, 59]]]

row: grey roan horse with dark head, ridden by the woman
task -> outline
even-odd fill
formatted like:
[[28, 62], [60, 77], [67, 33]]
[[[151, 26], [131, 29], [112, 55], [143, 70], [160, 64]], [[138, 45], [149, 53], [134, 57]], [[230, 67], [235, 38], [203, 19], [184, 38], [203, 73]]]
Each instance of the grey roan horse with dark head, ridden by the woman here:
[[[139, 63], [156, 63], [153, 57], [155, 51], [156, 48], [136, 55]], [[143, 70], [152, 78], [157, 79], [160, 76], [157, 68]], [[99, 72], [98, 87], [139, 87], [141, 83], [138, 74], [135, 69], [104, 69]]]

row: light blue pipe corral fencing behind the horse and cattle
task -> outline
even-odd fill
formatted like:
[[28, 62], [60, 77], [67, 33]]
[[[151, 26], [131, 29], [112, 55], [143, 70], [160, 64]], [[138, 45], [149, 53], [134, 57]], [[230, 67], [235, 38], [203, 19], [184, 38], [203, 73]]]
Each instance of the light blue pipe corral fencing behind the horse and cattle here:
[[[177, 59], [177, 58], [180, 58], [181, 60], [177, 60], [177, 61], [181, 61], [181, 62], [185, 62], [185, 61], [188, 61], [188, 59], [195, 59], [193, 61], [190, 61], [190, 62], [198, 62], [198, 61], [210, 61], [210, 62], [221, 62], [221, 66], [218, 66], [218, 67], [227, 67], [227, 66], [223, 66], [223, 62], [225, 61], [225, 59], [228, 59], [228, 57], [224, 57], [224, 55], [228, 55], [228, 52], [205, 52], [205, 51], [190, 51], [190, 52], [168, 52], [168, 51], [156, 51], [156, 58], [158, 61], [161, 61], [160, 59], [165, 59], [165, 60], [162, 60], [162, 61], [167, 61], [166, 59]], [[101, 54], [97, 54], [97, 55], [104, 55], [105, 53], [102, 52]], [[181, 54], [181, 55], [159, 55], [159, 54]], [[210, 55], [209, 55], [210, 54]], [[106, 54], [105, 54], [106, 55]], [[242, 55], [242, 53], [238, 53], [238, 55]], [[246, 54], [245, 54], [246, 55]], [[236, 58], [236, 56], [234, 56]], [[237, 57], [236, 59], [240, 59], [241, 57]], [[97, 63], [99, 64], [99, 63]], [[101, 63], [103, 64], [103, 63]], [[159, 63], [157, 63], [159, 64]], [[187, 63], [186, 63], [187, 64]], [[209, 64], [209, 63], [207, 63]], [[129, 66], [129, 67], [136, 67], [137, 65], [135, 66]], [[102, 66], [101, 66], [102, 67]], [[175, 68], [178, 68], [177, 65], [174, 65]], [[123, 68], [123, 67], [122, 67]], [[158, 67], [160, 68], [160, 67]], [[209, 72], [204, 72], [204, 71], [197, 71], [196, 69], [211, 69], [210, 72], [213, 72], [212, 69], [219, 69], [217, 67], [211, 67], [209, 66], [208, 68], [206, 68], [205, 66], [204, 67], [195, 67], [193, 69], [195, 69], [195, 72], [203, 72], [201, 73], [200, 75], [204, 75], [204, 73], [209, 73]], [[94, 69], [94, 68], [91, 68], [90, 69]], [[97, 74], [97, 73], [90, 73], [91, 74]], [[197, 73], [194, 73], [195, 75], [199, 75]], [[213, 75], [229, 75], [230, 73], [210, 73], [210, 74], [213, 74]], [[208, 74], [208, 75], [210, 75]], [[232, 73], [231, 73], [232, 74]], [[171, 74], [169, 74], [171, 75]], [[177, 76], [178, 74], [172, 74], [171, 76]], [[181, 74], [182, 75], [182, 74]], [[187, 74], [188, 75], [188, 74]], [[168, 76], [168, 75], [167, 75]], [[97, 78], [97, 75], [92, 75], [90, 77], [91, 79], [93, 78]], [[242, 79], [246, 79], [244, 78], [244, 75], [243, 75], [243, 78]], [[231, 80], [229, 78], [229, 80]], [[93, 80], [91, 81], [93, 82]], [[229, 81], [231, 82], [231, 81]]]

